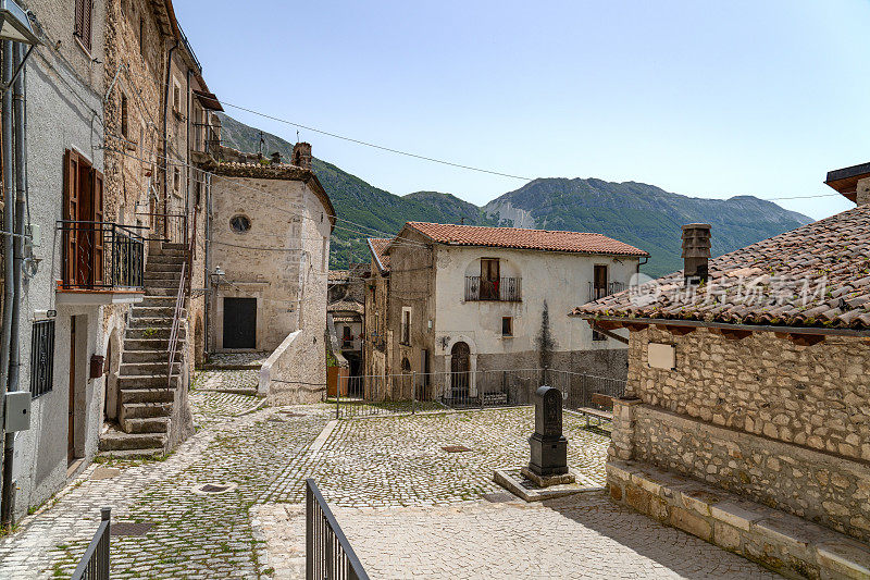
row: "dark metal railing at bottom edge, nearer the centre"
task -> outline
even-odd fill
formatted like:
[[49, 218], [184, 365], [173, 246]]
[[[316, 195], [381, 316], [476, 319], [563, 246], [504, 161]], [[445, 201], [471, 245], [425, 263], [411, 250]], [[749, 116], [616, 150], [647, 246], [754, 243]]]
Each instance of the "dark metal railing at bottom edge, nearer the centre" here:
[[306, 579], [369, 579], [313, 479], [306, 480]]

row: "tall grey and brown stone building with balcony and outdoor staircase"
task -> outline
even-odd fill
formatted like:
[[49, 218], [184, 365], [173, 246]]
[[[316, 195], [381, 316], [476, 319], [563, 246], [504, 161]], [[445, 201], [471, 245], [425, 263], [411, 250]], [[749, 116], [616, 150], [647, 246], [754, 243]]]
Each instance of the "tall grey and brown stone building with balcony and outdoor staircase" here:
[[[176, 235], [185, 221], [192, 230], [192, 184], [170, 190], [177, 201], [161, 208], [174, 175], [167, 166], [186, 168], [191, 155], [190, 103], [215, 102], [169, 1], [24, 8], [41, 44], [22, 77], [30, 237], [18, 386], [30, 391], [33, 420], [15, 437], [18, 515], [98, 451], [164, 453], [191, 432], [184, 317], [172, 379], [167, 350], [178, 270], [192, 263], [189, 232]], [[184, 81], [179, 108], [169, 98], [170, 67]], [[174, 221], [156, 217], [172, 212]], [[185, 306], [183, 313], [196, 310]]]

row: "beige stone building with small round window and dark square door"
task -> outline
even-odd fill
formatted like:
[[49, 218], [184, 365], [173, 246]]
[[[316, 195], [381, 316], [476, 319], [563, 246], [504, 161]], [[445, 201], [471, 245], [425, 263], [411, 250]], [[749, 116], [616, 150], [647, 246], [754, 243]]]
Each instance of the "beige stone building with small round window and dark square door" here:
[[296, 145], [294, 164], [226, 148], [221, 159], [210, 168], [210, 350], [272, 351], [261, 392], [320, 400], [335, 210], [311, 171], [311, 146]]

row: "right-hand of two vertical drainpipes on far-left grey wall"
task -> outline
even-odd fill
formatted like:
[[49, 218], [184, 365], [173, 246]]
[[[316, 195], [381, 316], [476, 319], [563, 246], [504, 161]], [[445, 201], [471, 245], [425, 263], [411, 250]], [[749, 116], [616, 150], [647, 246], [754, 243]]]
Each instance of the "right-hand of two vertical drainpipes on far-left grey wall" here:
[[[18, 44], [14, 48], [15, 66], [24, 61], [24, 47]], [[27, 190], [27, 175], [24, 172], [25, 150], [24, 135], [24, 76], [18, 75], [12, 101], [15, 131], [15, 238], [13, 242], [13, 284], [15, 300], [12, 303], [12, 329], [9, 360], [8, 391], [17, 391], [21, 378], [21, 303], [22, 292], [22, 261], [24, 260], [24, 205]], [[14, 501], [12, 481], [12, 460], [15, 455], [15, 433], [5, 434], [3, 445], [3, 493], [0, 502], [0, 522], [3, 528], [12, 525], [12, 505]]]

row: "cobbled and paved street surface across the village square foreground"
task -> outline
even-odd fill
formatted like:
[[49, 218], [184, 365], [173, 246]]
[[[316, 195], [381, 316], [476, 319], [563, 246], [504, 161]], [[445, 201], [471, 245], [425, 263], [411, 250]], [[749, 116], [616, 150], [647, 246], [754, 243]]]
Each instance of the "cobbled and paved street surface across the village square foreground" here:
[[[335, 422], [326, 405], [262, 408], [239, 388], [256, 374], [198, 377], [196, 435], [162, 461], [92, 465], [0, 540], [0, 577], [69, 577], [109, 505], [113, 525], [141, 525], [112, 538], [113, 578], [297, 578], [308, 477], [373, 578], [765, 573], [600, 492], [509, 501], [492, 470], [526, 460], [530, 408]], [[566, 421], [571, 464], [602, 483], [607, 437]]]

